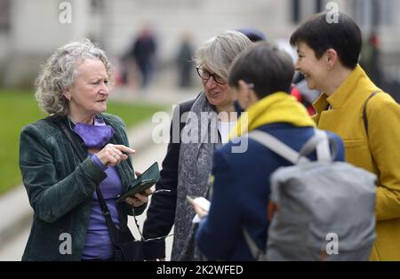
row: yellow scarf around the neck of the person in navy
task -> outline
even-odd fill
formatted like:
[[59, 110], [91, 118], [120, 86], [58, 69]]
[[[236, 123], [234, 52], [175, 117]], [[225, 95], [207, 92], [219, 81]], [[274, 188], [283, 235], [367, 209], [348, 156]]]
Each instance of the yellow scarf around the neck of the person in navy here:
[[294, 97], [285, 92], [276, 92], [257, 101], [240, 116], [230, 139], [273, 123], [287, 123], [298, 127], [315, 127], [304, 108]]

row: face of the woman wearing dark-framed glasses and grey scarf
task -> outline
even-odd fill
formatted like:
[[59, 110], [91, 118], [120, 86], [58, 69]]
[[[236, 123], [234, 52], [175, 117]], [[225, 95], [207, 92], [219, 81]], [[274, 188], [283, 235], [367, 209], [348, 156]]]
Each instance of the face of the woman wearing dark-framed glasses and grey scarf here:
[[[203, 66], [211, 75], [214, 72], [205, 66]], [[215, 82], [214, 78], [210, 76], [208, 80], [202, 79], [205, 97], [208, 102], [217, 108], [217, 111], [223, 110], [233, 106], [234, 96], [229, 90], [228, 84], [218, 84]]]

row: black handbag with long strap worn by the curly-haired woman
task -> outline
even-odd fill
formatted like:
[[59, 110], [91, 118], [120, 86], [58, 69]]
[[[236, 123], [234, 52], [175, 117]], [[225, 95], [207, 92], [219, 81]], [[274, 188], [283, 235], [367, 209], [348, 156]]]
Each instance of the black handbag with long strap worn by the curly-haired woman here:
[[[57, 123], [60, 125], [61, 131], [64, 132], [65, 136], [67, 137], [68, 141], [76, 152], [76, 155], [78, 155], [79, 159], [83, 162], [84, 158], [79, 154], [76, 143], [74, 140], [72, 140], [67, 126], [60, 122], [60, 119], [57, 121]], [[113, 220], [111, 219], [111, 214], [108, 211], [107, 203], [104, 201], [103, 195], [101, 194], [99, 187], [96, 187], [96, 194], [99, 198], [101, 212], [106, 219], [106, 224], [111, 241], [114, 244], [113, 259], [116, 261], [144, 260], [143, 242], [134, 238], [129, 227], [116, 227]], [[137, 222], [136, 219], [135, 222]]]

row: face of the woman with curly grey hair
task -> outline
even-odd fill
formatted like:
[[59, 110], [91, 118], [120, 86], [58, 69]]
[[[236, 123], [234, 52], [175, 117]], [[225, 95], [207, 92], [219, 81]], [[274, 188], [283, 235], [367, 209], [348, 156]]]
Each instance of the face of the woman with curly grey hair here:
[[69, 116], [84, 121], [107, 109], [108, 75], [98, 59], [80, 61], [76, 71], [75, 83], [64, 96], [69, 100]]

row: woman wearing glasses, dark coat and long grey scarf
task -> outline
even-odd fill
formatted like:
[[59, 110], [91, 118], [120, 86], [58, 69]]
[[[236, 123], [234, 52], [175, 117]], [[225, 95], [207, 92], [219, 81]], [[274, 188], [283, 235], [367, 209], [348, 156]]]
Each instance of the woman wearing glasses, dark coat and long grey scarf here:
[[[172, 260], [203, 258], [195, 244], [197, 225], [192, 220], [196, 213], [186, 196], [208, 195], [212, 154], [228, 141], [229, 127], [235, 125], [237, 117], [234, 96], [228, 90], [228, 68], [250, 44], [247, 36], [237, 31], [225, 31], [204, 42], [195, 54], [204, 90], [196, 100], [174, 110], [172, 123], [180, 129], [175, 131], [171, 126], [161, 179], [156, 184], [156, 190], [171, 192], [153, 196], [143, 229], [145, 238], [155, 238], [168, 235], [174, 225]], [[165, 258], [164, 238], [146, 243], [145, 258]]]

